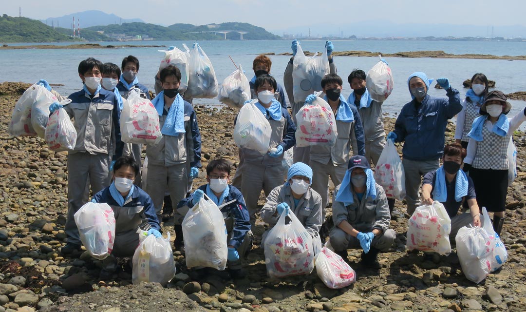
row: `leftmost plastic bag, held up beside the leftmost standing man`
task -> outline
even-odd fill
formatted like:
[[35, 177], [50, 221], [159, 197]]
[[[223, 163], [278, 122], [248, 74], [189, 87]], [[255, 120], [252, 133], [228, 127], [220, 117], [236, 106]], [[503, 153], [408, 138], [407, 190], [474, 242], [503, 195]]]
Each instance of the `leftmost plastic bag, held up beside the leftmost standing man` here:
[[32, 85], [18, 99], [13, 109], [13, 115], [9, 122], [7, 132], [12, 136], [35, 136], [36, 131], [31, 123], [31, 109], [38, 95], [43, 92], [45, 87]]

